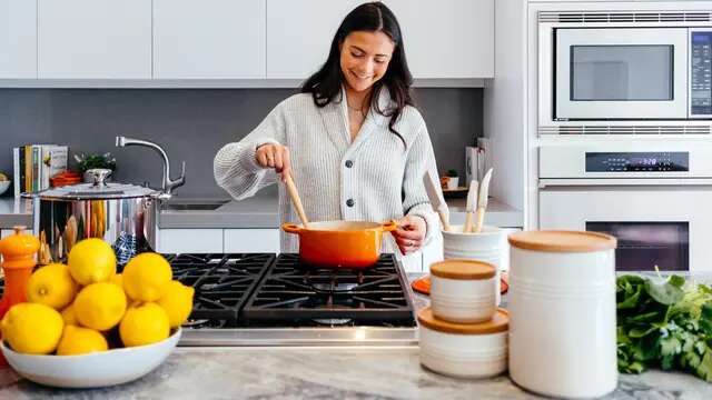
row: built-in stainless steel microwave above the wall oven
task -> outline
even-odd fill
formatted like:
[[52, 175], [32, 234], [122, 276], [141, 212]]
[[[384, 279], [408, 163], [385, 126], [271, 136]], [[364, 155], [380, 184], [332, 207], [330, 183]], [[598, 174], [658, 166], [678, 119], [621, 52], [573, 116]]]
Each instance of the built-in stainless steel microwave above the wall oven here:
[[712, 120], [712, 23], [540, 23], [540, 126]]

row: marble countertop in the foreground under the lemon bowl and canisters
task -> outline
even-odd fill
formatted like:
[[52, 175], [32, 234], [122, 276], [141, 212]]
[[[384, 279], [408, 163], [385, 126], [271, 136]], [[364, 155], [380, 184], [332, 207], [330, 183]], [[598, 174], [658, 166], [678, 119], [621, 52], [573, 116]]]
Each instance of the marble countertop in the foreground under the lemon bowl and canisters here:
[[[0, 399], [535, 399], [504, 376], [448, 378], [419, 366], [417, 348], [177, 348], [146, 377], [126, 384], [69, 390], [0, 370]], [[606, 399], [712, 399], [690, 374], [621, 374]]]

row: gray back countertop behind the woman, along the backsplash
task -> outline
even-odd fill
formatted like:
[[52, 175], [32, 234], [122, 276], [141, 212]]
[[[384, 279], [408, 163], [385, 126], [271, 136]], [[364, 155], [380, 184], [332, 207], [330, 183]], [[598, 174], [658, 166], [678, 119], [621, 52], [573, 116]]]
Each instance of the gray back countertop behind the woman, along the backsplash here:
[[[265, 191], [241, 201], [228, 198], [174, 198], [172, 202], [216, 202], [225, 204], [215, 210], [162, 210], [158, 219], [161, 229], [278, 229], [278, 197], [276, 191]], [[465, 222], [465, 199], [448, 199], [451, 223]], [[496, 227], [522, 227], [521, 210], [516, 210], [496, 199], [490, 199], [485, 223]], [[32, 207], [29, 200], [0, 198], [0, 229], [16, 224], [32, 224]]]

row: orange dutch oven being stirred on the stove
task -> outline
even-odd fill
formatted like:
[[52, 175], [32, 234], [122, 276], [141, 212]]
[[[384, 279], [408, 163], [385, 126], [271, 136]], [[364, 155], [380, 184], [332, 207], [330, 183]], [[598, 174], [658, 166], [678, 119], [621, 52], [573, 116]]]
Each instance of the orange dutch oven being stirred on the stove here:
[[380, 257], [383, 232], [397, 227], [396, 221], [320, 221], [309, 222], [308, 228], [285, 223], [281, 229], [299, 236], [299, 258], [304, 262], [338, 269], [375, 264]]

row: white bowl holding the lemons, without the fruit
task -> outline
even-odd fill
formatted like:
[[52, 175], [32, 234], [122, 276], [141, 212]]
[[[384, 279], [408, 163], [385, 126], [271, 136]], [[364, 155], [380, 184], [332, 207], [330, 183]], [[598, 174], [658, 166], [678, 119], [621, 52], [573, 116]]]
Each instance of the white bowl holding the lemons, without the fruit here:
[[13, 370], [33, 382], [58, 388], [98, 388], [126, 383], [152, 371], [178, 344], [180, 333], [179, 328], [157, 343], [81, 356], [22, 354], [12, 351], [4, 341], [0, 342], [0, 349]]

